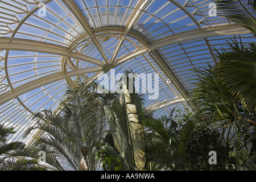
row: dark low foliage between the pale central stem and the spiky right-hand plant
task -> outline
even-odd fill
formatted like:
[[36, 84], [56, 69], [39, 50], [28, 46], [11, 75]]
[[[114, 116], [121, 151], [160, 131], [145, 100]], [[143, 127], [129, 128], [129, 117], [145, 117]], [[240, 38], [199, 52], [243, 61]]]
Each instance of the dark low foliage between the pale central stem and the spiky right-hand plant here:
[[[236, 164], [220, 133], [199, 113], [173, 109], [171, 117], [146, 120], [145, 126], [147, 169], [224, 170]], [[217, 152], [217, 165], [209, 164], [209, 151]]]

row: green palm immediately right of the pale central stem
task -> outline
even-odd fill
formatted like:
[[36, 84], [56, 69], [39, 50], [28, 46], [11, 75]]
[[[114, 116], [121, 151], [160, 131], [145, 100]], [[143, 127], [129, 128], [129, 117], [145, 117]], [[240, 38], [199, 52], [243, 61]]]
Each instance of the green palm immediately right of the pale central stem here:
[[185, 156], [193, 133], [205, 127], [198, 114], [172, 109], [169, 116], [145, 119], [146, 159], [160, 169], [185, 169]]

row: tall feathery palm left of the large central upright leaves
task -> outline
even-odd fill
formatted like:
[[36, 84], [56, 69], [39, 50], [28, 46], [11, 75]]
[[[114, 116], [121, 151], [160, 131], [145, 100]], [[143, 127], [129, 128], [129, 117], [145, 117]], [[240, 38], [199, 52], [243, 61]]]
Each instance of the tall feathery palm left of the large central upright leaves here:
[[94, 88], [81, 79], [76, 84], [76, 88], [68, 86], [58, 110], [37, 113], [37, 125], [27, 133], [35, 129], [43, 131], [34, 146], [53, 152], [53, 158], [47, 159], [54, 162], [51, 166], [55, 169], [97, 170], [100, 161], [96, 154], [106, 135], [107, 121]]

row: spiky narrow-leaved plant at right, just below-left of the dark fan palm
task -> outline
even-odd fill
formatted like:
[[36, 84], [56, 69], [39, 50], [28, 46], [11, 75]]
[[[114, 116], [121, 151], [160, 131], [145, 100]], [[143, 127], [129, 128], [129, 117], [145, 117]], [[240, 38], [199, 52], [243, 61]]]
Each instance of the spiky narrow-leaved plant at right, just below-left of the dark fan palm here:
[[237, 160], [244, 163], [255, 158], [256, 114], [230, 92], [232, 88], [225, 84], [218, 68], [209, 65], [209, 68], [196, 69], [200, 78], [193, 90], [192, 101], [199, 113], [220, 123], [222, 140], [232, 145]]

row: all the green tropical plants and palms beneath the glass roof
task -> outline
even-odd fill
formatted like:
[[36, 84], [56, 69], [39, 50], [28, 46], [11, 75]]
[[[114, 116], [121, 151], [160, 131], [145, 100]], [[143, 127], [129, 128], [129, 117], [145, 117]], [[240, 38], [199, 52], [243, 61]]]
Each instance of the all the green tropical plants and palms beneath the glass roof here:
[[[255, 1], [216, 3], [255, 34]], [[43, 132], [31, 148], [7, 143], [13, 128], [0, 125], [0, 170], [255, 170], [256, 46], [228, 44], [216, 49], [216, 65], [194, 70], [193, 111], [155, 118], [123, 80], [122, 94], [98, 94], [80, 78], [56, 111], [35, 115], [27, 134]], [[38, 163], [39, 151], [46, 164]], [[209, 164], [209, 151], [217, 164]]]

